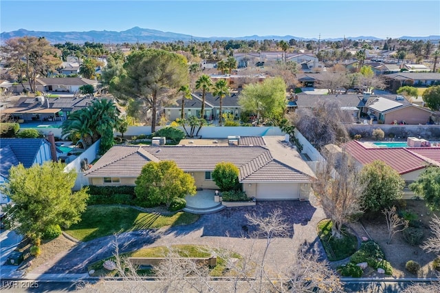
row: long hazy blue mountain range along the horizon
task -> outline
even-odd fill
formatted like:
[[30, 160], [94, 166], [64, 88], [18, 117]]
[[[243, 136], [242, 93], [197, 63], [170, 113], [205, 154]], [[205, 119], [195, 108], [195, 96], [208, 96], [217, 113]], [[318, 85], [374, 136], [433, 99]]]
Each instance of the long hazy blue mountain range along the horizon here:
[[[318, 41], [318, 39], [305, 39], [299, 36], [240, 36], [240, 37], [230, 37], [230, 36], [192, 36], [190, 34], [178, 34], [175, 32], [162, 32], [160, 30], [151, 30], [147, 28], [131, 28], [129, 30], [124, 30], [122, 32], [114, 32], [109, 30], [91, 30], [89, 32], [37, 32], [33, 30], [14, 30], [12, 32], [2, 32], [0, 34], [1, 43], [4, 41], [21, 36], [44, 36], [51, 43], [85, 43], [96, 42], [96, 43], [151, 43], [153, 41], [157, 42], [171, 42], [171, 41], [216, 41], [216, 40], [256, 40], [262, 41], [266, 39], [274, 40], [285, 40], [295, 39], [297, 41]], [[327, 41], [341, 41], [343, 38], [336, 39], [325, 39]], [[348, 36], [346, 39], [352, 40], [371, 40], [377, 41], [381, 40], [375, 36]], [[401, 36], [398, 39], [409, 39], [409, 40], [440, 40], [440, 36]], [[322, 40], [323, 41], [323, 40]]]

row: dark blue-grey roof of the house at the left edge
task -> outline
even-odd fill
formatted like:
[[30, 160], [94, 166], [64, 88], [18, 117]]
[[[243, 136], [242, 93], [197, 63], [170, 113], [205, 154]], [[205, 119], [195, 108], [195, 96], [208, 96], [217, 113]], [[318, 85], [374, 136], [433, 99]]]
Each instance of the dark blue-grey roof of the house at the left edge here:
[[[0, 147], [3, 149], [9, 146], [19, 162], [29, 168], [35, 161], [36, 155], [39, 153], [41, 144], [50, 143], [44, 138], [1, 138]], [[0, 163], [3, 165], [3, 160]]]

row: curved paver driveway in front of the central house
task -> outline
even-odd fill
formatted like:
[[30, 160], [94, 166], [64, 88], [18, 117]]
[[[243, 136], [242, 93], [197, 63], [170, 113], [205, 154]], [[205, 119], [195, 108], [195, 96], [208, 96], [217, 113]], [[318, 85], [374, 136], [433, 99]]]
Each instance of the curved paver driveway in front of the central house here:
[[[266, 239], [252, 239], [249, 232], [255, 230], [245, 219], [246, 213], [261, 217], [272, 210], [280, 209], [285, 221], [292, 226], [288, 237], [276, 238], [267, 252], [267, 265], [272, 268], [287, 267], [294, 260], [294, 253], [307, 243], [309, 250], [322, 254], [317, 241], [316, 224], [323, 219], [322, 209], [309, 202], [257, 202], [256, 206], [225, 208], [218, 213], [201, 215], [194, 224], [176, 226], [160, 230], [138, 230], [118, 235], [120, 252], [138, 250], [153, 246], [175, 244], [198, 244], [216, 248], [226, 248], [245, 255], [262, 252]], [[85, 273], [87, 265], [110, 257], [114, 252], [113, 236], [101, 237], [80, 243], [72, 250], [55, 256], [52, 261], [40, 265], [32, 273]]]

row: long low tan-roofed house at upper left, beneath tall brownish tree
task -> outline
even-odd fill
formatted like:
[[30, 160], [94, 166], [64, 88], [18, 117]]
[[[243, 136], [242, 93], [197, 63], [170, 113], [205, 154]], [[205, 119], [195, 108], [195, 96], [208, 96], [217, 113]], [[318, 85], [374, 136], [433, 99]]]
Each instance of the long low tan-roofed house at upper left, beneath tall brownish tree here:
[[[98, 81], [80, 77], [46, 77], [36, 78], [35, 85], [37, 91], [74, 93], [83, 85], [93, 85], [96, 88]], [[30, 86], [28, 84], [25, 83], [25, 87], [30, 91]], [[21, 93], [23, 91], [23, 86], [14, 85], [12, 91]]]

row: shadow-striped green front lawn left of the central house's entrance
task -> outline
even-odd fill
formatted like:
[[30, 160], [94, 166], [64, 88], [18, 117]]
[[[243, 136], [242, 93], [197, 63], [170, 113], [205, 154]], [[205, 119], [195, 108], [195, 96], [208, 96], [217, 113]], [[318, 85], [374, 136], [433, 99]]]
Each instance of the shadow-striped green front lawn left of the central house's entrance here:
[[177, 212], [171, 215], [144, 213], [124, 206], [89, 206], [78, 224], [65, 232], [80, 241], [132, 230], [191, 224], [199, 215]]

